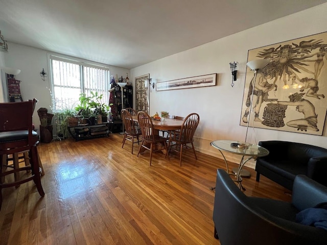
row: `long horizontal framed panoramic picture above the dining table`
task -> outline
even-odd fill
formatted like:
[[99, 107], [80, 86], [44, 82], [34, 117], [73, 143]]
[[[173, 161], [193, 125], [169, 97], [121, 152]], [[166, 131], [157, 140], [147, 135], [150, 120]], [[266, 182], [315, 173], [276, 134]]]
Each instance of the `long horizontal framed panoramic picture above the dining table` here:
[[171, 80], [167, 82], [156, 83], [156, 91], [164, 91], [170, 89], [181, 89], [181, 88], [197, 88], [197, 87], [207, 87], [216, 85], [217, 74], [208, 74], [198, 77], [182, 78]]

